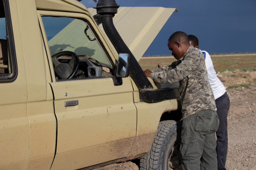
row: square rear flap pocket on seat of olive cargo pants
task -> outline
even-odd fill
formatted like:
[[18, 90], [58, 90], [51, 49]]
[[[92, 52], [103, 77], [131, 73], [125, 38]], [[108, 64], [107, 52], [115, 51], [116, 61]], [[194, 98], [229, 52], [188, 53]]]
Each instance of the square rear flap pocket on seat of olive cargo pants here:
[[198, 114], [196, 116], [195, 131], [209, 132], [212, 124], [212, 115]]

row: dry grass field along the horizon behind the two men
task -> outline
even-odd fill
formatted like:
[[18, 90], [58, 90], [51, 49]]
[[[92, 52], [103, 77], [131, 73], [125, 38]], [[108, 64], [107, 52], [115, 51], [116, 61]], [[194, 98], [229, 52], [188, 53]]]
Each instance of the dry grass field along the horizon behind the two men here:
[[[153, 70], [158, 68], [157, 64], [161, 66], [170, 65], [172, 62], [176, 61], [173, 58], [141, 58], [139, 64], [143, 70], [149, 69]], [[216, 72], [223, 72], [225, 70], [233, 71], [239, 69], [243, 71], [248, 69], [252, 71], [256, 68], [256, 55], [234, 55], [234, 56], [220, 56], [212, 57], [213, 66]]]

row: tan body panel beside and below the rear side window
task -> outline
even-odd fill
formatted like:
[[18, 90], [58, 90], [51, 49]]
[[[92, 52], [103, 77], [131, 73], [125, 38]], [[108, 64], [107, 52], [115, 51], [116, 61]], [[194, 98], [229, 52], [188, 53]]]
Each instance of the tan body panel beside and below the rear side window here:
[[12, 30], [15, 35], [18, 76], [0, 87], [0, 169], [25, 169], [29, 154], [27, 80], [20, 37], [19, 14], [15, 1], [10, 3]]

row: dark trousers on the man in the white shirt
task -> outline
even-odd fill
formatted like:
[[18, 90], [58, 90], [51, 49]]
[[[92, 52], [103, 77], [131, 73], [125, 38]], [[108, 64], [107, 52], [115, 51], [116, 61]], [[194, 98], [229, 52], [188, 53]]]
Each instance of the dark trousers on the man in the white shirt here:
[[230, 101], [228, 94], [225, 93], [215, 100], [217, 107], [217, 115], [220, 118], [220, 125], [216, 132], [217, 135], [217, 161], [218, 161], [218, 170], [226, 170], [226, 158], [228, 153], [228, 109], [230, 106]]

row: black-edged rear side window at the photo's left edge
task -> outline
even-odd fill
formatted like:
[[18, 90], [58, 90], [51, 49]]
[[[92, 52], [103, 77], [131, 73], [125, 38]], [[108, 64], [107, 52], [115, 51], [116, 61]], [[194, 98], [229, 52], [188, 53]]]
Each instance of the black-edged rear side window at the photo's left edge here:
[[[14, 61], [14, 54], [11, 55], [10, 39], [11, 21], [6, 15], [8, 13], [7, 1], [0, 0], [0, 81], [12, 81], [16, 78], [16, 61]], [[8, 24], [9, 23], [9, 24]], [[14, 48], [14, 47], [12, 47]]]

